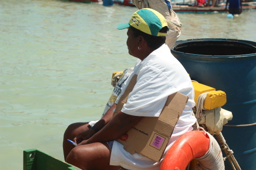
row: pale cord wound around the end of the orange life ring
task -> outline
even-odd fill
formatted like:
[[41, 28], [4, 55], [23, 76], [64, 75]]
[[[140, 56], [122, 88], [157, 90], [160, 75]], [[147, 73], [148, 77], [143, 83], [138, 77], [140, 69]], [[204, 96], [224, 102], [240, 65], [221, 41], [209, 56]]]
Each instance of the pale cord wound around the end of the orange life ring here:
[[215, 140], [215, 138], [206, 132], [209, 136], [209, 150], [199, 158], [195, 158], [204, 169], [218, 169], [224, 170], [225, 165], [222, 158], [221, 149], [219, 143]]

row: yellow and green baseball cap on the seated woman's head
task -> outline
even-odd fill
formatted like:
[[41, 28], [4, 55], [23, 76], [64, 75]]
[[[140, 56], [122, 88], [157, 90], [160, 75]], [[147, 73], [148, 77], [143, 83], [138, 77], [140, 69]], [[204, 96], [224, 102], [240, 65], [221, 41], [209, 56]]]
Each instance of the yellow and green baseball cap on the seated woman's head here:
[[166, 33], [159, 33], [163, 27], [168, 27], [167, 22], [162, 14], [151, 9], [143, 8], [136, 11], [129, 23], [123, 23], [117, 26], [117, 29], [122, 30], [129, 27], [134, 27], [146, 34], [153, 36], [165, 37]]

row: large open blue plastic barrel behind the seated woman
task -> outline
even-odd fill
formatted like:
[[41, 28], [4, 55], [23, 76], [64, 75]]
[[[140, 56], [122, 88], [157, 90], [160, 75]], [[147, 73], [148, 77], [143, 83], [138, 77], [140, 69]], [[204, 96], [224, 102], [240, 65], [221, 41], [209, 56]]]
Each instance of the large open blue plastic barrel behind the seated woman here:
[[[225, 91], [233, 118], [222, 134], [240, 167], [256, 168], [256, 42], [236, 39], [177, 41], [172, 54], [191, 79]], [[234, 126], [234, 127], [232, 127]], [[225, 154], [224, 154], [225, 155]], [[228, 160], [225, 169], [232, 169]]]

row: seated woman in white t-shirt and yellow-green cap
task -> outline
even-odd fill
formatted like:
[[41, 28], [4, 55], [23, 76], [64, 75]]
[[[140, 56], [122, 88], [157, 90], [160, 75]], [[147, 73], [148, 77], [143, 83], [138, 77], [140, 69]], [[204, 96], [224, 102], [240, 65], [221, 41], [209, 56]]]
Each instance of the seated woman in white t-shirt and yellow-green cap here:
[[193, 85], [165, 44], [168, 27], [164, 17], [155, 10], [141, 9], [132, 15], [129, 23], [118, 26], [118, 29], [125, 28], [128, 28], [129, 54], [138, 58], [127, 84], [134, 75], [137, 75], [137, 83], [119, 113], [112, 117], [118, 97], [99, 122], [74, 138], [79, 144], [68, 153], [66, 161], [82, 169], [159, 169], [162, 160], [154, 162], [138, 153], [130, 154], [115, 139], [144, 116], [158, 117], [170, 94], [180, 92], [189, 100], [165, 153], [178, 137], [191, 131], [196, 122], [192, 116], [195, 106]]

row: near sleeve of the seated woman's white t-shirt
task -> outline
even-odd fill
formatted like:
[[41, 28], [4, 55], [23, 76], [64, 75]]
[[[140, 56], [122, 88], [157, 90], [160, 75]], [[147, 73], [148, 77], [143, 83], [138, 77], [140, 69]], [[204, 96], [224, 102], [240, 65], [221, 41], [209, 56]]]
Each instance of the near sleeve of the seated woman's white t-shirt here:
[[143, 67], [122, 112], [136, 116], [159, 116], [172, 87], [172, 82], [153, 66]]

